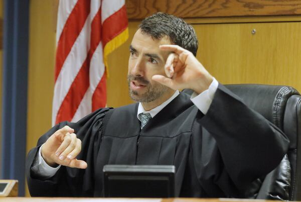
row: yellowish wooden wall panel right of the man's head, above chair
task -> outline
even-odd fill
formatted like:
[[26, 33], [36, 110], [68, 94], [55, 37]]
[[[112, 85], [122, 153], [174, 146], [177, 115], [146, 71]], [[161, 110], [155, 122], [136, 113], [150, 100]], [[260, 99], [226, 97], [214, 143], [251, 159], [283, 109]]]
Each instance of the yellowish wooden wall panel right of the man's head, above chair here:
[[301, 22], [194, 27], [197, 57], [220, 82], [291, 85], [301, 91]]

